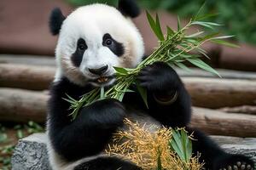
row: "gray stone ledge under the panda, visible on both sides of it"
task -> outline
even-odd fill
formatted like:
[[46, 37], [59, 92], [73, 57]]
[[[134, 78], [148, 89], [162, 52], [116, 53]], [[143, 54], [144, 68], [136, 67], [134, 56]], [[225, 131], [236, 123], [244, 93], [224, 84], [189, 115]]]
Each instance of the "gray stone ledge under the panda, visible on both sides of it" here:
[[[256, 161], [256, 138], [236, 138], [212, 136], [227, 152], [253, 157]], [[46, 150], [47, 136], [36, 133], [25, 139], [20, 139], [12, 156], [13, 170], [49, 170], [49, 160]]]

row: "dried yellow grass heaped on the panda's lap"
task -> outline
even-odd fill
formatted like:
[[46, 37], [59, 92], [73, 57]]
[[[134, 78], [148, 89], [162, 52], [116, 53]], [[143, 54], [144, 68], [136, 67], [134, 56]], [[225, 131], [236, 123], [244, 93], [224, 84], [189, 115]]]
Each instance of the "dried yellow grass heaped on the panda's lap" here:
[[141, 126], [128, 119], [125, 119], [125, 124], [129, 130], [114, 134], [113, 144], [108, 144], [108, 150], [106, 150], [108, 156], [122, 157], [145, 170], [157, 169], [159, 156], [163, 170], [199, 170], [202, 168], [198, 157], [192, 157], [189, 162], [184, 162], [170, 149], [171, 128], [161, 127], [152, 133], [145, 124]]

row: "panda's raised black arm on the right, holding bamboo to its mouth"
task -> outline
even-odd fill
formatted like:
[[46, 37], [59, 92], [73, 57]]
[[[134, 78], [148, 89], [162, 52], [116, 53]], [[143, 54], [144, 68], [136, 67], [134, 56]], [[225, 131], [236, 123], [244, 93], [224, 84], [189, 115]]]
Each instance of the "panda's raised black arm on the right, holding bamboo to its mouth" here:
[[191, 102], [177, 72], [162, 62], [144, 68], [138, 80], [148, 89], [148, 112], [168, 127], [184, 127], [190, 121]]

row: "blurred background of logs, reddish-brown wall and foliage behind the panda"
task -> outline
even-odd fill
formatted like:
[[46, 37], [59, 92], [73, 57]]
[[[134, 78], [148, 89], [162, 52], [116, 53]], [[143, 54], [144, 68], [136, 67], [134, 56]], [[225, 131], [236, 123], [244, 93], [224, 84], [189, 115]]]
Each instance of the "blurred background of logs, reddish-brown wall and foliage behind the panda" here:
[[[10, 169], [18, 139], [44, 132], [49, 84], [55, 74], [57, 37], [49, 33], [49, 13], [62, 13], [90, 3], [117, 0], [1, 0], [0, 1], [0, 169]], [[146, 54], [157, 47], [145, 10], [160, 15], [163, 29], [177, 28], [177, 15], [189, 20], [204, 0], [137, 0], [142, 14], [134, 19], [143, 34]], [[191, 126], [212, 135], [256, 137], [256, 1], [207, 0], [203, 14], [240, 48], [207, 43], [203, 46], [222, 78], [192, 68], [177, 69], [194, 105]], [[194, 28], [192, 32], [197, 29]], [[253, 146], [256, 150], [256, 145]], [[254, 152], [255, 153], [255, 152]], [[255, 155], [254, 155], [255, 156]]]

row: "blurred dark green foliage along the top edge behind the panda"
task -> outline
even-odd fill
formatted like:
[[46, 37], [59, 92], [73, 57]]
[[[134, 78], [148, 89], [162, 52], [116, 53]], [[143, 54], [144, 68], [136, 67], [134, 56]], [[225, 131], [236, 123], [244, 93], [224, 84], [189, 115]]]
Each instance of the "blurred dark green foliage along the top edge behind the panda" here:
[[[67, 0], [75, 6], [88, 3], [116, 5], [117, 0]], [[147, 9], [164, 9], [181, 17], [196, 14], [205, 0], [137, 0]], [[256, 0], [207, 0], [204, 14], [218, 14], [212, 22], [224, 24], [225, 34], [236, 35], [239, 42], [256, 44]]]

